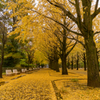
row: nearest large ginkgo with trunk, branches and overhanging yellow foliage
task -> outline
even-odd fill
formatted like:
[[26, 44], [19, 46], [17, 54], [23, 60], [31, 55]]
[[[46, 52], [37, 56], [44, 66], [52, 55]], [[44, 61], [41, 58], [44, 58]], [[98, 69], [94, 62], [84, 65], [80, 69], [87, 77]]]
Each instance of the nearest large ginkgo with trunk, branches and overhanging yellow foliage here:
[[[33, 1], [33, 0], [32, 0]], [[84, 43], [80, 42], [86, 49], [87, 66], [88, 66], [88, 86], [100, 86], [99, 81], [99, 64], [97, 57], [97, 49], [94, 42], [94, 35], [98, 32], [94, 32], [93, 21], [95, 17], [100, 13], [100, 7], [98, 6], [99, 0], [38, 0], [38, 4], [35, 6], [32, 1], [28, 0], [18, 0], [18, 3], [9, 3], [10, 9], [12, 7], [17, 8], [18, 5], [21, 9], [12, 16], [19, 17], [19, 21], [16, 23], [15, 30], [19, 32], [22, 30], [22, 34], [30, 31], [30, 27], [36, 31], [37, 25], [40, 24], [38, 21], [43, 19], [43, 17], [55, 21], [61, 25], [64, 29], [73, 34], [84, 37]], [[26, 3], [27, 2], [27, 3]], [[94, 4], [94, 6], [92, 6]], [[28, 9], [27, 9], [28, 8]], [[15, 9], [16, 10], [16, 9]], [[79, 31], [70, 29], [61, 21], [61, 19], [54, 19], [49, 11], [53, 13], [59, 13], [65, 18], [71, 19], [71, 24], [75, 24]], [[21, 14], [21, 12], [28, 12], [26, 14]], [[63, 12], [63, 13], [62, 13]], [[23, 17], [24, 16], [24, 17]], [[23, 19], [21, 19], [23, 17]], [[37, 19], [33, 20], [32, 19]], [[42, 20], [43, 21], [43, 20]], [[23, 22], [25, 24], [23, 24]], [[21, 26], [22, 25], [22, 26]], [[41, 25], [41, 24], [40, 24]], [[25, 28], [26, 27], [26, 28]], [[26, 36], [26, 35], [25, 35]], [[75, 38], [76, 39], [76, 38]]]

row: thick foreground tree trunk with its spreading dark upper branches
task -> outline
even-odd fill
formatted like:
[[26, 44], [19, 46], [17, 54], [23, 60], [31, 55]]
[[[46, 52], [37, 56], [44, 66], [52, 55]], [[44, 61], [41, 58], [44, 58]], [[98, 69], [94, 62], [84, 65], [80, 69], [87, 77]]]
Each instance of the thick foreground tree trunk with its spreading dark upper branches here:
[[[41, 0], [39, 0], [41, 1]], [[84, 45], [86, 49], [87, 66], [88, 66], [88, 86], [99, 87], [99, 64], [97, 57], [97, 49], [94, 42], [94, 35], [98, 32], [93, 30], [93, 19], [100, 13], [99, 0], [66, 0], [65, 4], [59, 0], [45, 0], [50, 5], [65, 12], [65, 16], [69, 17], [78, 27], [80, 32], [70, 30], [63, 23], [53, 19], [50, 16], [47, 18], [57, 22], [66, 30], [73, 32], [76, 35], [84, 37]], [[95, 6], [92, 4], [95, 3]], [[45, 3], [46, 4], [46, 3]], [[66, 6], [67, 5], [67, 6]], [[44, 5], [46, 6], [46, 5]], [[70, 8], [70, 9], [69, 9]], [[74, 8], [72, 10], [72, 8]], [[92, 10], [92, 11], [91, 11]], [[46, 17], [46, 15], [45, 15]]]

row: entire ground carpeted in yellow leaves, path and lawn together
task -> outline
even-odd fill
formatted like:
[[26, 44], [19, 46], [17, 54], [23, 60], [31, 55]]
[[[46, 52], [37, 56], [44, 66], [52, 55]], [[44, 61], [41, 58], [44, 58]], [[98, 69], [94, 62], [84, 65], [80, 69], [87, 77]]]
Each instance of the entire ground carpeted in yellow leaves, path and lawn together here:
[[41, 69], [20, 74], [25, 76], [18, 79], [20, 75], [4, 76], [0, 82], [8, 83], [0, 86], [0, 100], [100, 100], [100, 88], [87, 87], [83, 69], [68, 72], [69, 75], [61, 75], [61, 72]]

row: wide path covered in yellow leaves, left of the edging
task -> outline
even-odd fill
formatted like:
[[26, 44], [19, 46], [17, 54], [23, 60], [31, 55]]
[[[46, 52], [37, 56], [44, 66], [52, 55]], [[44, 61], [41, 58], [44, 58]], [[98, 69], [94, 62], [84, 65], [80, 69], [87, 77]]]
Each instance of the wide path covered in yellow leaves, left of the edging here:
[[0, 100], [55, 100], [48, 69], [41, 69], [0, 86]]

